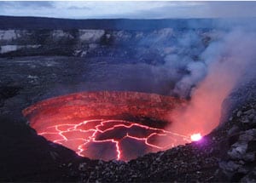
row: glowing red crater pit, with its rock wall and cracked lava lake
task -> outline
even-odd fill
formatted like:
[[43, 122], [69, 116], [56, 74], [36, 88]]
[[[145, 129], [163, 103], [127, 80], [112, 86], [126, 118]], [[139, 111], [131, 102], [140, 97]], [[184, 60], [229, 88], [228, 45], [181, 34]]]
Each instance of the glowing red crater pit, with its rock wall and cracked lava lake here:
[[128, 161], [190, 141], [164, 129], [171, 123], [166, 113], [185, 103], [159, 94], [84, 92], [38, 102], [23, 114], [38, 134], [80, 156]]

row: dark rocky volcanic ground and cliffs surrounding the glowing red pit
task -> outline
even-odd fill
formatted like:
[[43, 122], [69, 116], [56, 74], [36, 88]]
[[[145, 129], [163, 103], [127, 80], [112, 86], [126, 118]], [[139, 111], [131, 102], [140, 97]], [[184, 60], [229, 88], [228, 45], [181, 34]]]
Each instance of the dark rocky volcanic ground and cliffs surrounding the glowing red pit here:
[[[230, 27], [214, 29], [198, 22], [192, 28], [160, 25], [139, 31], [4, 27], [0, 31], [0, 180], [255, 181], [256, 83], [251, 71], [255, 55], [247, 49], [255, 48], [250, 42], [254, 35], [247, 38]], [[232, 76], [230, 70], [238, 73], [237, 67], [249, 65], [235, 77], [237, 82], [225, 81], [234, 87], [221, 101], [218, 128], [201, 141], [127, 163], [79, 157], [38, 136], [21, 114], [37, 101], [79, 91], [125, 90], [193, 100], [191, 91], [212, 73], [212, 60], [229, 63], [233, 57], [252, 61], [233, 62], [235, 67], [231, 62], [227, 70], [218, 67]]]

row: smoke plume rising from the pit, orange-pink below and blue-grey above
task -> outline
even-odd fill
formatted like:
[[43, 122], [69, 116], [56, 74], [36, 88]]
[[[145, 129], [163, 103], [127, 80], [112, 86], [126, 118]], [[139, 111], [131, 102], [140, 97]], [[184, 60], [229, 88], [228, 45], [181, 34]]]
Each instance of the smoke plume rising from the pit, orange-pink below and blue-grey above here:
[[236, 28], [226, 32], [222, 39], [209, 44], [201, 54], [202, 62], [189, 63], [189, 75], [182, 77], [174, 92], [188, 94], [188, 106], [170, 115], [169, 130], [180, 134], [208, 134], [216, 128], [224, 99], [245, 76], [255, 75], [256, 33]]

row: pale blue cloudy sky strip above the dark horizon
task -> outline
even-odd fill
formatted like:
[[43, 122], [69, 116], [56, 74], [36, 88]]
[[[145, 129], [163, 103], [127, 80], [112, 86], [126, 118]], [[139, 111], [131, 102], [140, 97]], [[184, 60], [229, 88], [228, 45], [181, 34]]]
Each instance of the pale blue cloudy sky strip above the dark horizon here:
[[0, 15], [68, 19], [256, 17], [256, 2], [0, 1]]

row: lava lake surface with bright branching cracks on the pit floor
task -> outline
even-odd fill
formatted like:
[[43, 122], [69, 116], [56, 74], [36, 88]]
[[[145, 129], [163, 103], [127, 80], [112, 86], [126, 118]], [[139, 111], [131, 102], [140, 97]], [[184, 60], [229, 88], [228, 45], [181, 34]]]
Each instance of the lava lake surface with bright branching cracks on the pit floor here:
[[[95, 127], [90, 129], [91, 123]], [[160, 136], [165, 136], [171, 141], [176, 141], [177, 138], [186, 140], [186, 136], [163, 129], [154, 129], [123, 120], [102, 119], [88, 120], [78, 124], [55, 125], [38, 134], [75, 150], [80, 156], [122, 160], [137, 157], [145, 152], [157, 152], [170, 147], [170, 144], [154, 144], [154, 140]], [[135, 144], [142, 145], [136, 146], [137, 150], [132, 151], [131, 148]], [[173, 143], [172, 146], [174, 146]], [[126, 151], [124, 152], [123, 149]], [[127, 153], [128, 151], [130, 153]]]

